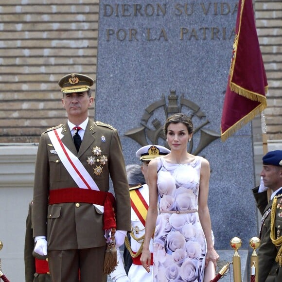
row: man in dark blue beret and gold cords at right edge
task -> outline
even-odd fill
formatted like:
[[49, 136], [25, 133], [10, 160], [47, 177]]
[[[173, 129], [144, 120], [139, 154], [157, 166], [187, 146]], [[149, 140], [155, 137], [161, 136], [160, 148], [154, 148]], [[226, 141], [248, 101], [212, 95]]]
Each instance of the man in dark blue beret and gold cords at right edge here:
[[[282, 150], [263, 157], [261, 185], [252, 191], [262, 213], [260, 228], [259, 282], [282, 281]], [[267, 188], [272, 190], [270, 201]]]

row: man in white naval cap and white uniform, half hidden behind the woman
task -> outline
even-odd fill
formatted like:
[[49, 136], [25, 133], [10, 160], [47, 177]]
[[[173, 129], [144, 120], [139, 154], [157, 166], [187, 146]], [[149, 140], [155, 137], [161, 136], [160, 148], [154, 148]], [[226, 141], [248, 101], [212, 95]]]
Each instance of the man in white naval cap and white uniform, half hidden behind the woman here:
[[[136, 152], [136, 157], [141, 160], [141, 171], [148, 182], [148, 165], [152, 159], [165, 156], [170, 152], [169, 149], [159, 145], [147, 145], [141, 147]], [[128, 183], [134, 184], [134, 171], [127, 173]], [[131, 233], [130, 240], [125, 238], [125, 246], [128, 249], [132, 264], [128, 271], [128, 278], [131, 282], [152, 282], [153, 281], [153, 265], [150, 266], [151, 271], [148, 273], [140, 262], [142, 246], [145, 234], [145, 220], [149, 207], [149, 188], [147, 184], [129, 188], [131, 200]], [[153, 239], [150, 242], [150, 251], [152, 253], [153, 264]], [[124, 250], [124, 254], [126, 251]], [[125, 260], [124, 260], [125, 261]], [[130, 262], [125, 261], [125, 264]]]

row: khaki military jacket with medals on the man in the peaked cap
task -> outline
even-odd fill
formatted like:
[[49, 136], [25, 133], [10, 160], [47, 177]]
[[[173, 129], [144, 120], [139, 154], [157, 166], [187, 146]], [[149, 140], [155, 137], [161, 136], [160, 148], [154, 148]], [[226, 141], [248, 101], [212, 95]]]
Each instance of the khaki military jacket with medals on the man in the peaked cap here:
[[[73, 154], [77, 155], [100, 191], [109, 190], [111, 178], [117, 204], [117, 229], [129, 231], [130, 197], [122, 146], [117, 130], [105, 123], [89, 120], [77, 153], [68, 124], [61, 127], [63, 134], [61, 141]], [[96, 156], [93, 152], [93, 148], [96, 147], [101, 150], [100, 156]], [[107, 159], [104, 165], [97, 161], [101, 156]], [[35, 164], [34, 236], [47, 236], [48, 250], [105, 246], [103, 213], [92, 204], [49, 205], [50, 190], [72, 187], [77, 188], [77, 184], [58, 158], [48, 132], [42, 133]]]

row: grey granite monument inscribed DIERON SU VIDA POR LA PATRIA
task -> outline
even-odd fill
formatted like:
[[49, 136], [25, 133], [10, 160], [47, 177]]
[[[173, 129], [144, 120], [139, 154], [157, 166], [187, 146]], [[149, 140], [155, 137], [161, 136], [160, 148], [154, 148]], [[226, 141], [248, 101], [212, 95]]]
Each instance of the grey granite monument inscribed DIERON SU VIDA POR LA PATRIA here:
[[251, 124], [227, 141], [220, 121], [237, 0], [100, 0], [95, 120], [118, 129], [126, 164], [141, 145], [165, 144], [162, 126], [183, 112], [194, 123], [188, 151], [211, 165], [209, 209], [215, 248], [257, 236], [251, 194]]

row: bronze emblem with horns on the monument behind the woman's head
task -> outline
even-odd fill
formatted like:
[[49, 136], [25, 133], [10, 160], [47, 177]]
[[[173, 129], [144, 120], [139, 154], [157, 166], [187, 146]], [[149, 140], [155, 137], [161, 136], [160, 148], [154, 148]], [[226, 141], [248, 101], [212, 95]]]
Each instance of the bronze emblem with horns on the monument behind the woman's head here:
[[[163, 110], [163, 117], [160, 118], [161, 109]], [[189, 153], [198, 155], [212, 141], [220, 137], [219, 133], [204, 128], [210, 122], [207, 120], [206, 114], [200, 110], [200, 106], [186, 99], [184, 94], [181, 94], [181, 97], [178, 98], [175, 90], [170, 91], [168, 95], [168, 105], [163, 95], [162, 99], [153, 102], [145, 108], [141, 117], [141, 126], [125, 132], [124, 135], [137, 141], [141, 146], [157, 144], [168, 148], [166, 136], [163, 132], [163, 123], [160, 120], [165, 121], [170, 115], [180, 112], [189, 116], [194, 125], [196, 125], [194, 126], [193, 138], [189, 142]], [[193, 150], [195, 143], [197, 147]]]

